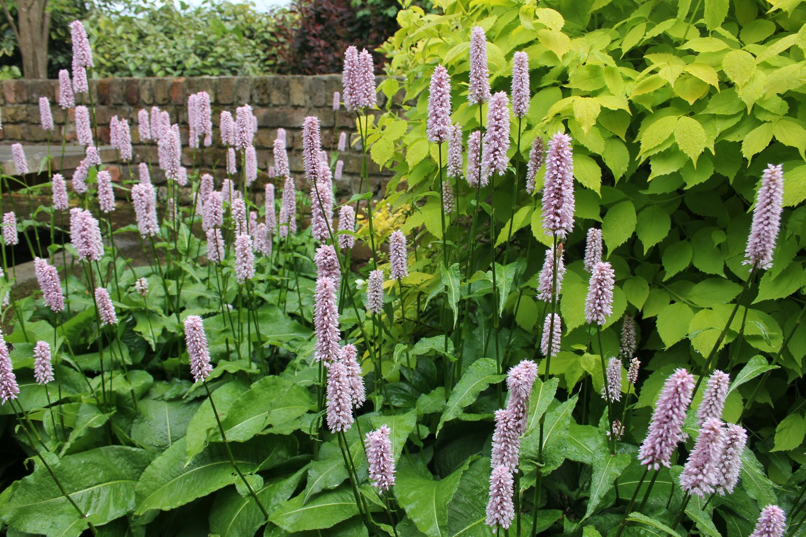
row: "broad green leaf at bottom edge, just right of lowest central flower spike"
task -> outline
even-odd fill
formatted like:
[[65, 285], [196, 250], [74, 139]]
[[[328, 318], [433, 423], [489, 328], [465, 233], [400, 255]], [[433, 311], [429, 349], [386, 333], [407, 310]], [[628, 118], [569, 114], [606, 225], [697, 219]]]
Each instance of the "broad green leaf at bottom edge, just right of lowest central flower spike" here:
[[470, 463], [471, 459], [467, 459], [451, 475], [434, 481], [419, 460], [409, 462], [401, 459], [395, 479], [395, 498], [418, 530], [429, 537], [448, 535], [448, 503], [453, 499], [459, 488], [459, 480]]

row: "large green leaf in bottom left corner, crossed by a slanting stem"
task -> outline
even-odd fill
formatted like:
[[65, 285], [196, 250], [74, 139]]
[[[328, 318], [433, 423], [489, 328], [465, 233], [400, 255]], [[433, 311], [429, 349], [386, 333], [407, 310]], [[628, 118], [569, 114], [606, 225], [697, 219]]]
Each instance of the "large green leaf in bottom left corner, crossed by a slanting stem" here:
[[37, 464], [30, 476], [10, 489], [8, 501], [0, 506], [0, 519], [17, 531], [77, 537], [87, 522], [100, 526], [134, 509], [135, 483], [147, 465], [145, 451], [124, 446], [64, 456], [53, 470], [87, 515], [82, 520], [50, 473]]

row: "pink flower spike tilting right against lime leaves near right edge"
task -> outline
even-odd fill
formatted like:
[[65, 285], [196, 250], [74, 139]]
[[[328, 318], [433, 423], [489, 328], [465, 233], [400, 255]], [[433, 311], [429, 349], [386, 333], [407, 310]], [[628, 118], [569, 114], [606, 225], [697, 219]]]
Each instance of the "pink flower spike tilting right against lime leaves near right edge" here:
[[753, 269], [768, 269], [772, 266], [775, 252], [775, 239], [781, 228], [783, 204], [783, 165], [767, 165], [758, 188], [756, 205], [753, 209], [753, 225], [747, 239], [745, 252], [746, 265]]

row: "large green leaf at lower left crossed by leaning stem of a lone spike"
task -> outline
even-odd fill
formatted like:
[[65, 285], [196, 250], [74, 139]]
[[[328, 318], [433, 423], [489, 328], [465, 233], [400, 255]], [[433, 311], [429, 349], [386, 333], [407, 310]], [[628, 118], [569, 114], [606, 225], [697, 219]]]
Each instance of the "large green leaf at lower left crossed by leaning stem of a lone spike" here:
[[[271, 468], [296, 451], [289, 436], [264, 436], [260, 442], [230, 444], [235, 464], [243, 473]], [[137, 509], [169, 510], [239, 481], [224, 444], [210, 444], [185, 465], [185, 439], [174, 442], [140, 476], [135, 489]]]

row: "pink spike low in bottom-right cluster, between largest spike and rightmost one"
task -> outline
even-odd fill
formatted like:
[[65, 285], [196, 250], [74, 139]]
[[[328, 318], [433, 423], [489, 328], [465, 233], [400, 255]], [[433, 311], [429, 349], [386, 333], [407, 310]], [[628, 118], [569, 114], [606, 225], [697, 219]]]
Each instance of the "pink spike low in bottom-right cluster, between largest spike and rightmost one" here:
[[721, 419], [705, 420], [694, 449], [689, 453], [688, 461], [683, 467], [683, 473], [680, 474], [680, 488], [700, 498], [713, 493], [718, 482], [719, 458], [724, 449], [725, 430]]

